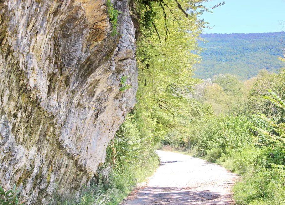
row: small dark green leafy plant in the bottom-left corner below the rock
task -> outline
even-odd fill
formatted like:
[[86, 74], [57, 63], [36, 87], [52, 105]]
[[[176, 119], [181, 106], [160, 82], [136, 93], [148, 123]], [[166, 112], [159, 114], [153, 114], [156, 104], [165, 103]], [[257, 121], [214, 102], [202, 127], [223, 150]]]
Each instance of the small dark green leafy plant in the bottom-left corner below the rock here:
[[0, 205], [24, 205], [23, 203], [19, 203], [18, 192], [19, 190], [16, 190], [16, 185], [7, 192], [0, 186]]

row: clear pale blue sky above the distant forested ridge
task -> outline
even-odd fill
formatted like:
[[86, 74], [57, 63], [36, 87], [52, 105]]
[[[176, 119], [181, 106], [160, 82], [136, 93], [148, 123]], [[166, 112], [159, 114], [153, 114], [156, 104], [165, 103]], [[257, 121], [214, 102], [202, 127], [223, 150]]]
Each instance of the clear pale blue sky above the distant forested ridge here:
[[212, 29], [203, 33], [264, 33], [285, 31], [285, 0], [213, 0], [224, 5], [205, 12], [200, 18], [210, 23]]

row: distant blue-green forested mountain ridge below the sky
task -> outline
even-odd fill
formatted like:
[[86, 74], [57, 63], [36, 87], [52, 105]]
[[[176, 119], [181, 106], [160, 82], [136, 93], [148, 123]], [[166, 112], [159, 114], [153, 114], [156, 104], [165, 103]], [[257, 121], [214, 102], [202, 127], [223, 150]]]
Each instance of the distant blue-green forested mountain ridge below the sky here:
[[245, 80], [256, 76], [259, 70], [277, 72], [284, 67], [281, 40], [285, 46], [285, 33], [232, 33], [201, 34], [208, 42], [199, 42], [204, 48], [203, 60], [194, 68], [194, 78], [211, 78], [230, 73]]

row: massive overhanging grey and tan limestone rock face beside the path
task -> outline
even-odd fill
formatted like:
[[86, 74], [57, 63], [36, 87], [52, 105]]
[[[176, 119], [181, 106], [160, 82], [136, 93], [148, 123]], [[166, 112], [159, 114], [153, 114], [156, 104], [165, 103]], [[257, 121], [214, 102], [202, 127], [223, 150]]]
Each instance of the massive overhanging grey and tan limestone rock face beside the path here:
[[0, 0], [0, 184], [27, 205], [88, 185], [135, 104], [128, 1], [113, 2], [116, 36], [105, 3]]

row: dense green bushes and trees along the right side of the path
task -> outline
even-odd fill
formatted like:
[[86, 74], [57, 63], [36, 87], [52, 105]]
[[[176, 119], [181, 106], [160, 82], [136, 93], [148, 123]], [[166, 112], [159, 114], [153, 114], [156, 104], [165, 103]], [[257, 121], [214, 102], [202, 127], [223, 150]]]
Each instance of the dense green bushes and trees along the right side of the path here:
[[[236, 204], [285, 204], [285, 72], [262, 71], [247, 82], [232, 78], [219, 76], [215, 84], [206, 86], [198, 101], [211, 105], [213, 113], [198, 115], [189, 136], [169, 135], [161, 147], [187, 149], [240, 174], [233, 188]], [[214, 93], [212, 86], [223, 93]], [[216, 95], [213, 101], [209, 101], [209, 90]], [[236, 105], [242, 108], [239, 112], [229, 109]]]

